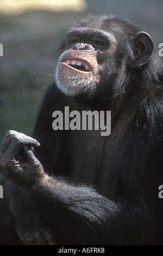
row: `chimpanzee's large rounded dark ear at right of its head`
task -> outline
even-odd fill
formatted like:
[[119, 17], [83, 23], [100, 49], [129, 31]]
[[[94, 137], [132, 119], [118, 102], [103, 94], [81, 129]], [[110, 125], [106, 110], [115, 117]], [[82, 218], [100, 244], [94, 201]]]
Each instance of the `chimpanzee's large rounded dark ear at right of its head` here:
[[134, 58], [131, 59], [130, 67], [137, 68], [143, 66], [151, 59], [154, 51], [154, 43], [149, 34], [139, 32], [133, 38]]

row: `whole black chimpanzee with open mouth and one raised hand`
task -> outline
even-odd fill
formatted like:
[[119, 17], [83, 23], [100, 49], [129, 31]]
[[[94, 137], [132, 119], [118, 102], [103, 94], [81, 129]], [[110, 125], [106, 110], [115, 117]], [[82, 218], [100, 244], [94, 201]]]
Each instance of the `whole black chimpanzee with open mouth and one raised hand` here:
[[[32, 138], [10, 130], [1, 146], [1, 244], [163, 244], [163, 68], [152, 38], [89, 15], [59, 52]], [[111, 134], [54, 129], [65, 106], [111, 111]]]

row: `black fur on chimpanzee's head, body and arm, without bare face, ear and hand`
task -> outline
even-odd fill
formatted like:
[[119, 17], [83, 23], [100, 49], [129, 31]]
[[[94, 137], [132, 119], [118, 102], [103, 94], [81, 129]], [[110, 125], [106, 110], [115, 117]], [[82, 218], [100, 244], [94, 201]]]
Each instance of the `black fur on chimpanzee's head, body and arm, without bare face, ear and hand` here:
[[[0, 243], [21, 244], [13, 223], [17, 234], [30, 225], [33, 234], [35, 214], [41, 223], [37, 229], [45, 225], [57, 245], [162, 245], [162, 64], [153, 53], [143, 66], [130, 67], [132, 40], [141, 29], [127, 20], [90, 16], [78, 27], [113, 33], [116, 55], [98, 52], [101, 82], [91, 97], [86, 92], [67, 97], [55, 83], [47, 88], [32, 137], [41, 144], [34, 153], [49, 180], [35, 188], [5, 181]], [[60, 51], [65, 47], [64, 40]], [[80, 112], [111, 110], [111, 135], [54, 131], [52, 113], [65, 106]], [[29, 244], [37, 244], [33, 236]]]

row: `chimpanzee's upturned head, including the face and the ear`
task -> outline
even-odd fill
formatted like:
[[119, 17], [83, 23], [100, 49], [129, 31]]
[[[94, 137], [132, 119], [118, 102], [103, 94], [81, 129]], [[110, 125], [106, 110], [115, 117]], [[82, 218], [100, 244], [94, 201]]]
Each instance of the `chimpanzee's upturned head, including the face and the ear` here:
[[92, 96], [97, 88], [117, 82], [122, 86], [126, 67], [143, 66], [153, 52], [147, 33], [130, 32], [127, 25], [108, 20], [72, 29], [63, 45], [55, 79], [58, 88], [72, 97], [85, 92]]

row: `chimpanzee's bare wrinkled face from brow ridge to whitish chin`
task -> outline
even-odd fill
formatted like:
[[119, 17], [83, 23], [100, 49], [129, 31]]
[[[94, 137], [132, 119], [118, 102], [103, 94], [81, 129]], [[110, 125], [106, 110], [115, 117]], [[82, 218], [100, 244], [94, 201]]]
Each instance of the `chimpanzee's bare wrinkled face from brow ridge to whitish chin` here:
[[113, 35], [96, 28], [77, 28], [67, 34], [65, 51], [55, 72], [59, 90], [74, 97], [91, 96], [101, 80], [109, 53], [116, 49]]

